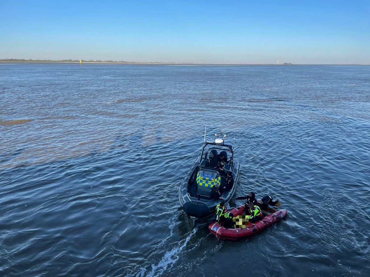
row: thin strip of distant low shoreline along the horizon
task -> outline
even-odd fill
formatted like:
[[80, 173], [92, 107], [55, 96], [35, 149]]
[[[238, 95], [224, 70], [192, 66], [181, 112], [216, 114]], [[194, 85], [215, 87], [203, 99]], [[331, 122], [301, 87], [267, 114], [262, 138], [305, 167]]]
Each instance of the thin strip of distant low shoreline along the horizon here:
[[[11, 62], [11, 63], [43, 63], [43, 64], [80, 64], [80, 61], [42, 61], [42, 60], [24, 60], [24, 61], [9, 61], [9, 60], [0, 60], [0, 63]], [[81, 64], [129, 64], [129, 65], [276, 65], [276, 66], [289, 66], [289, 65], [366, 65], [366, 64], [206, 64], [206, 63], [186, 63], [186, 62], [111, 62], [111, 61], [82, 61]]]

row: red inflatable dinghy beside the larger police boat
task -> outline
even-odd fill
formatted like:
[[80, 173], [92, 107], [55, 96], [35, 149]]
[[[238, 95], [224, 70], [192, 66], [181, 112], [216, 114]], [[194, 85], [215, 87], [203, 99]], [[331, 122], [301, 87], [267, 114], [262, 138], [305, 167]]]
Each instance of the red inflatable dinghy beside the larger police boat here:
[[[220, 239], [229, 239], [229, 240], [240, 240], [240, 239], [247, 239], [256, 233], [258, 233], [260, 230], [263, 230], [270, 225], [273, 225], [275, 222], [278, 222], [282, 218], [285, 218], [287, 210], [279, 210], [276, 211], [272, 208], [269, 208], [269, 211], [266, 212], [262, 211], [263, 215], [265, 217], [257, 221], [255, 223], [246, 222], [247, 225], [245, 228], [225, 228], [222, 226], [222, 223], [216, 221], [216, 219], [213, 219], [211, 224], [209, 224], [208, 229], [209, 231], [215, 235], [216, 237]], [[241, 216], [243, 213], [245, 213], [245, 206], [239, 206], [237, 208], [232, 208], [229, 210], [235, 217]]]

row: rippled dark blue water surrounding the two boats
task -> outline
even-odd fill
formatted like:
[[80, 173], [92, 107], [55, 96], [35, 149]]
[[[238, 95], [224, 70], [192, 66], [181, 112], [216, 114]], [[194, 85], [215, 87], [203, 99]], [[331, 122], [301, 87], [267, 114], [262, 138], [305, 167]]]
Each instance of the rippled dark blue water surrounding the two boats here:
[[[369, 276], [369, 76], [0, 64], [0, 276]], [[205, 125], [234, 145], [235, 197], [270, 194], [285, 220], [229, 242], [184, 214]]]

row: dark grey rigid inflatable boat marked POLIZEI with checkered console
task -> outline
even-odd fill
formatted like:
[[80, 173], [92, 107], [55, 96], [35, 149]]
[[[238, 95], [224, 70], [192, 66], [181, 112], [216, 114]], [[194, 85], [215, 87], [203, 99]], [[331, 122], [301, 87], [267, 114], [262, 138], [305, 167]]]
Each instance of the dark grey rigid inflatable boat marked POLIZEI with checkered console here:
[[[202, 153], [186, 174], [179, 188], [179, 201], [186, 214], [194, 218], [206, 218], [215, 213], [216, 205], [232, 198], [238, 184], [240, 165], [234, 161], [231, 145], [225, 144], [226, 134], [215, 134], [215, 141], [205, 141]], [[220, 167], [221, 165], [221, 167]], [[234, 184], [231, 189], [218, 196], [215, 188], [223, 188], [228, 172], [232, 173]], [[213, 189], [212, 189], [213, 188]]]

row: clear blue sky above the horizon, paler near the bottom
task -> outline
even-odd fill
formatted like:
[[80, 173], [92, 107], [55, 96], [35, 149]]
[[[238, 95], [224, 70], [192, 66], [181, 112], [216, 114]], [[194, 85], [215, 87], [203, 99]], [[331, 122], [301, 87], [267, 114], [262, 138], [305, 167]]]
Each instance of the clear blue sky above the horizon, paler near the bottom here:
[[0, 58], [370, 64], [370, 1], [0, 0]]

